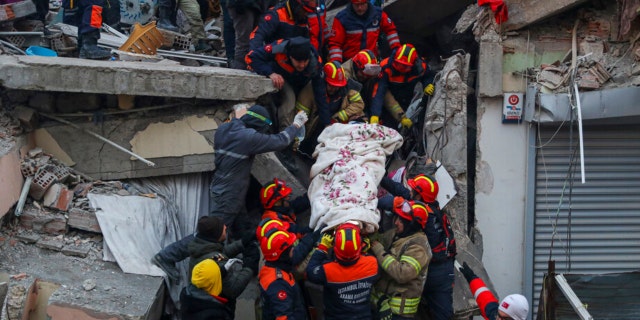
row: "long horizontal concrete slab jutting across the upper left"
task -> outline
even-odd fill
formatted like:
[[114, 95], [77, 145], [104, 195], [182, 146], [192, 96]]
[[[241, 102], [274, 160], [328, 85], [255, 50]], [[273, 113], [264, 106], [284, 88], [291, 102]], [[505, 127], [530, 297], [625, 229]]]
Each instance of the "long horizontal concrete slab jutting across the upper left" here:
[[269, 78], [244, 70], [9, 55], [0, 56], [0, 82], [9, 89], [234, 101], [275, 90]]

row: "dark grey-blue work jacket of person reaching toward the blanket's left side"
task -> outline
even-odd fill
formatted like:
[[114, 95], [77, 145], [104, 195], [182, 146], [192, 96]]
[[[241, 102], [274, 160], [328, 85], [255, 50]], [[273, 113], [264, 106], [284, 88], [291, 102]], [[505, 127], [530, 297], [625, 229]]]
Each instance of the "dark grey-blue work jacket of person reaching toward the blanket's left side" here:
[[260, 133], [239, 119], [218, 127], [214, 137], [216, 169], [209, 187], [211, 213], [235, 215], [243, 211], [255, 155], [285, 149], [297, 131], [291, 125], [278, 134]]

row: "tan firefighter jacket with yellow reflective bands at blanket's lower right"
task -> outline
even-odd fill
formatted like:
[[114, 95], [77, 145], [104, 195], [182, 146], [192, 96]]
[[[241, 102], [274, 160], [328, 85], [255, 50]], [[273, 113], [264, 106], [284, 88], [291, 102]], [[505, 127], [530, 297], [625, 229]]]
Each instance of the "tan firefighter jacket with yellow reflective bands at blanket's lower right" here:
[[384, 271], [375, 285], [373, 300], [377, 303], [386, 296], [392, 313], [413, 317], [418, 312], [431, 249], [422, 231], [386, 244], [394, 236], [395, 229], [383, 234], [384, 250], [377, 246], [371, 248]]

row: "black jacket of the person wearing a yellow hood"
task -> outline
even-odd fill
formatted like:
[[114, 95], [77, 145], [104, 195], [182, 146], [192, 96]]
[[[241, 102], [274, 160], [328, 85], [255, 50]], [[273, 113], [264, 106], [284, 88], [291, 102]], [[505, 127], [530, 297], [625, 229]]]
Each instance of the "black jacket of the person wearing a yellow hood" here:
[[182, 319], [231, 320], [234, 314], [223, 300], [190, 283], [180, 292], [180, 314]]

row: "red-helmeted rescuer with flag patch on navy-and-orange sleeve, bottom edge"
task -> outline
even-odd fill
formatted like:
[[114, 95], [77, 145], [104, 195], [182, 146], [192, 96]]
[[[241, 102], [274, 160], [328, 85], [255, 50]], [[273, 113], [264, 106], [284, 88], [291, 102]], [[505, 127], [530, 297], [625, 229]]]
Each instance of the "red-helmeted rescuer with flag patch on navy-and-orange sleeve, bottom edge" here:
[[273, 230], [260, 241], [264, 266], [258, 276], [263, 320], [307, 319], [302, 290], [292, 273], [296, 236]]

